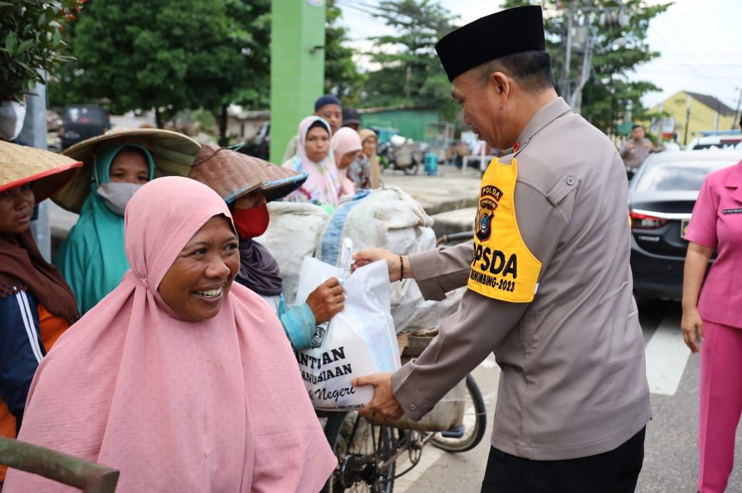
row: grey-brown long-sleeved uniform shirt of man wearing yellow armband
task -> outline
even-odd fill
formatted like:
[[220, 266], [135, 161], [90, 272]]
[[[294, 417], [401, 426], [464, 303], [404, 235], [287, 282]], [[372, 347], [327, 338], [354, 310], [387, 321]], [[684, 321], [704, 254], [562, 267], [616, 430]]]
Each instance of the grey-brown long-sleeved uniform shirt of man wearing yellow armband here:
[[[392, 376], [419, 419], [490, 352], [502, 368], [492, 445], [559, 460], [615, 449], [651, 417], [629, 266], [626, 171], [611, 142], [562, 98], [519, 136], [516, 218], [542, 262], [530, 303], [467, 290], [417, 360]], [[502, 159], [512, 159], [505, 156]], [[427, 299], [466, 285], [472, 243], [410, 257]]]

